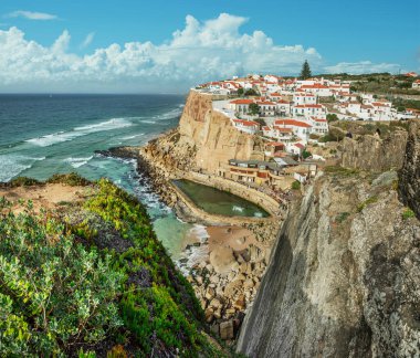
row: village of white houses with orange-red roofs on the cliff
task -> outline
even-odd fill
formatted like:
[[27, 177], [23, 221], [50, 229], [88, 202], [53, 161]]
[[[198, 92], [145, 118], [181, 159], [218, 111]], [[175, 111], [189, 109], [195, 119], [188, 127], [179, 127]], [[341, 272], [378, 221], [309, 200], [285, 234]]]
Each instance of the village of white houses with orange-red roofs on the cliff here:
[[[413, 88], [418, 82], [413, 82]], [[375, 125], [419, 118], [417, 109], [398, 110], [391, 101], [354, 92], [351, 81], [336, 78], [251, 74], [200, 84], [191, 91], [211, 95], [213, 110], [229, 117], [241, 133], [263, 143], [263, 160], [232, 158], [219, 175], [272, 189], [284, 190], [294, 181], [305, 183], [319, 165], [326, 164], [328, 158], [311, 150], [325, 147], [330, 122], [364, 120]], [[376, 135], [380, 135], [379, 129]], [[353, 135], [348, 131], [346, 136]]]

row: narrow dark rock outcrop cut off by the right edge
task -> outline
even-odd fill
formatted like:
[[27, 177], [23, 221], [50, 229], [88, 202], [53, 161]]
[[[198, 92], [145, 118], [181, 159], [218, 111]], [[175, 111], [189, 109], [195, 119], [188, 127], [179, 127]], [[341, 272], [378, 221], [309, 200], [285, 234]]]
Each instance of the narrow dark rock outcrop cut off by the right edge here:
[[420, 124], [412, 122], [407, 141], [406, 157], [399, 178], [402, 201], [420, 219]]

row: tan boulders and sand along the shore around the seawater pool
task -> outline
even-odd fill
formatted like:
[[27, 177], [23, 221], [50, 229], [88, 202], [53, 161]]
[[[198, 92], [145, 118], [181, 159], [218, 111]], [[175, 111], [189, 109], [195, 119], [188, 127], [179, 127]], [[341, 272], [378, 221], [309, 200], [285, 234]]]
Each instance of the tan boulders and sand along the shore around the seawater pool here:
[[[176, 129], [170, 130], [145, 147], [111, 148], [101, 155], [135, 158], [141, 180], [147, 181], [179, 219], [207, 225], [210, 238], [187, 245], [185, 259], [177, 264], [189, 273], [187, 278], [195, 288], [212, 331], [223, 340], [233, 343], [245, 310], [255, 297], [282, 221], [280, 218], [258, 223], [250, 220], [232, 227], [197, 218], [170, 185], [172, 178], [193, 169], [189, 160], [193, 148], [188, 148], [191, 156], [174, 158], [170, 148], [177, 135]], [[229, 238], [230, 243], [227, 243], [229, 240], [224, 239]], [[188, 257], [198, 250], [208, 252], [206, 260], [189, 266]]]

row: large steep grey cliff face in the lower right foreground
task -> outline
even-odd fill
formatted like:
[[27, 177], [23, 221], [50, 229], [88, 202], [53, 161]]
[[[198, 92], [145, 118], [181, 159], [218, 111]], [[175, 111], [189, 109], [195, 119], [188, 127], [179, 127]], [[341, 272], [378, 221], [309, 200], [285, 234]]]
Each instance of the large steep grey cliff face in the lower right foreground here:
[[315, 181], [284, 222], [241, 352], [420, 354], [420, 223], [403, 220], [395, 179], [343, 169]]

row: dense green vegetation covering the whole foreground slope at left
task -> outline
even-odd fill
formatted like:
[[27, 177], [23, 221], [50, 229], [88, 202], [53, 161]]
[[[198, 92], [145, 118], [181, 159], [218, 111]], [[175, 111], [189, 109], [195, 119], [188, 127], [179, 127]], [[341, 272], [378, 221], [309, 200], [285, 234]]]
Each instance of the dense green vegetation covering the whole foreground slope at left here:
[[91, 188], [56, 212], [0, 201], [0, 355], [219, 356], [144, 207], [107, 180]]

